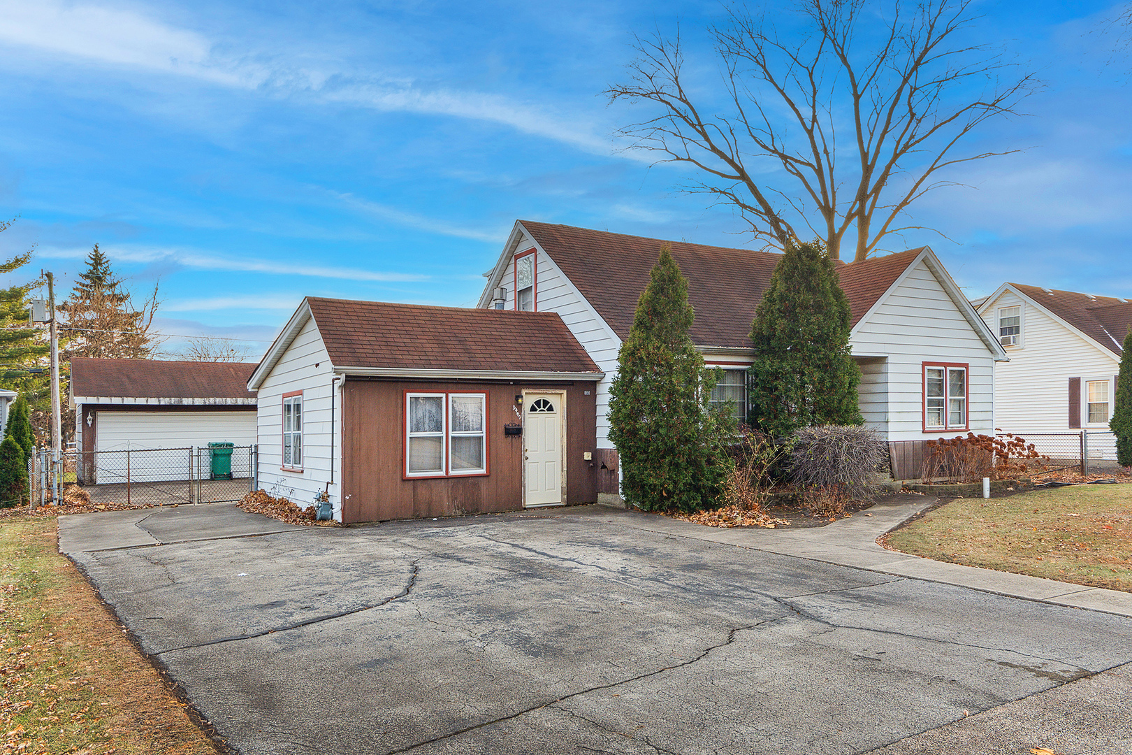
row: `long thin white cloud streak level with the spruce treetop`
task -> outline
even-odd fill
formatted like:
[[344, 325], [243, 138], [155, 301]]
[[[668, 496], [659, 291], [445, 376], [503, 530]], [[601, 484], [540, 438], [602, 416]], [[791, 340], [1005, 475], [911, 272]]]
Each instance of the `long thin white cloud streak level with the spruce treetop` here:
[[[413, 283], [429, 280], [427, 275], [384, 273], [357, 267], [332, 267], [325, 265], [302, 265], [285, 261], [256, 259], [254, 257], [223, 257], [220, 255], [186, 251], [163, 247], [138, 247], [132, 244], [103, 244], [110, 257], [123, 263], [171, 261], [183, 267], [200, 271], [228, 271], [233, 273], [271, 273], [273, 275], [307, 275], [343, 281], [378, 281], [383, 283]], [[88, 249], [41, 248], [41, 257], [53, 259], [82, 259]]]

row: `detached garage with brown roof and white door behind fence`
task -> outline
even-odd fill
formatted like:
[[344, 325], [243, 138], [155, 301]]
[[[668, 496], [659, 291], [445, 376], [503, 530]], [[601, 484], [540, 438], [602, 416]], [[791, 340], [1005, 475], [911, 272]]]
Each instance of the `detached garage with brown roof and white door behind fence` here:
[[[75, 440], [95, 452], [256, 443], [256, 393], [243, 362], [72, 359]], [[80, 478], [89, 478], [89, 470]], [[97, 482], [80, 479], [84, 483]]]

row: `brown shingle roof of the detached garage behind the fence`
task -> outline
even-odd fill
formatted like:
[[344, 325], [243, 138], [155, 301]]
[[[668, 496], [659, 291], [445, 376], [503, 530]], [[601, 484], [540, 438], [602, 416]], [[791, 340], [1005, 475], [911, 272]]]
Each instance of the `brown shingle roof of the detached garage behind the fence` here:
[[130, 398], [255, 398], [246, 362], [71, 359], [71, 395]]

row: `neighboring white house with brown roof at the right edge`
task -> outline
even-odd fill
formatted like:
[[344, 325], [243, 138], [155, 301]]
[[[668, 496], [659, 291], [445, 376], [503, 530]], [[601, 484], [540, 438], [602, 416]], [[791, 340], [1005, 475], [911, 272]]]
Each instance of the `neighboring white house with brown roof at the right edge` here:
[[[1132, 302], [1004, 283], [977, 303], [1010, 357], [995, 375], [998, 428], [1023, 437], [1108, 430]], [[1055, 445], [1045, 439], [1045, 449]], [[1089, 448], [1115, 458], [1110, 436], [1091, 438]]]

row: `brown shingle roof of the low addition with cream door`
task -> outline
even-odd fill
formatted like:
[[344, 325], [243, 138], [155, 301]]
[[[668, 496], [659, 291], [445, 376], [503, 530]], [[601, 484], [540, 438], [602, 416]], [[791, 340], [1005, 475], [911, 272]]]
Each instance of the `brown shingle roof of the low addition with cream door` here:
[[335, 367], [600, 372], [557, 312], [307, 299]]

